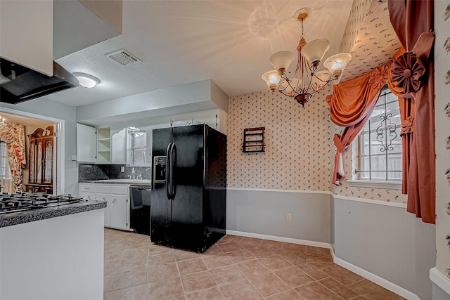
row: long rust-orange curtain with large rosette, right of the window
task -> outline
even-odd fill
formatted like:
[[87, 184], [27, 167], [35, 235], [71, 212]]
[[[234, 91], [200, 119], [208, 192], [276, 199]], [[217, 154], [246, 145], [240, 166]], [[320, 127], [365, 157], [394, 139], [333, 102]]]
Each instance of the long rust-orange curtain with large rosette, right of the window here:
[[[407, 51], [393, 63], [390, 74], [390, 85], [397, 95], [403, 94], [399, 103], [404, 152], [402, 191], [408, 193], [406, 210], [421, 217], [423, 222], [434, 224], [435, 78], [431, 51], [434, 37], [430, 34], [434, 22], [434, 1], [389, 0], [388, 8], [392, 26]], [[406, 65], [403, 72], [399, 65]], [[414, 70], [424, 76], [413, 80]]]

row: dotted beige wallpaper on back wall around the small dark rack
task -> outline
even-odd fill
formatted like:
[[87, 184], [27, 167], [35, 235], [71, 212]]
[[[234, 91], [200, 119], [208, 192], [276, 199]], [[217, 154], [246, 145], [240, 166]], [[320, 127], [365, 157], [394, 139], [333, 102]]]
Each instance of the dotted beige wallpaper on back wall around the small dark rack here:
[[[227, 186], [330, 190], [330, 118], [326, 93], [298, 104], [265, 91], [233, 96], [227, 117]], [[244, 153], [243, 131], [265, 127], [265, 152]]]

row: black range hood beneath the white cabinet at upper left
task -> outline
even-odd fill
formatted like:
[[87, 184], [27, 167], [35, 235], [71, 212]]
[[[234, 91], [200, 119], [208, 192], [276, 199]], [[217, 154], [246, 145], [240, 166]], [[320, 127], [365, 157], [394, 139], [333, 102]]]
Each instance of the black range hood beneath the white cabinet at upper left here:
[[79, 86], [78, 79], [53, 61], [53, 76], [0, 58], [0, 102], [16, 104]]

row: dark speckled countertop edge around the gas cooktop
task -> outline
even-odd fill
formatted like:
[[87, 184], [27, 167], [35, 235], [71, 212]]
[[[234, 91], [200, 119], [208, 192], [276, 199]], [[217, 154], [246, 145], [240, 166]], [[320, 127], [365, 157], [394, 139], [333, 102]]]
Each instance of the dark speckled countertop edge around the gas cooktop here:
[[31, 209], [26, 211], [16, 211], [6, 214], [0, 214], [0, 228], [56, 218], [57, 216], [78, 214], [80, 212], [103, 209], [105, 207], [105, 201], [88, 200], [73, 204], [61, 205], [59, 207], [44, 207], [41, 209]]

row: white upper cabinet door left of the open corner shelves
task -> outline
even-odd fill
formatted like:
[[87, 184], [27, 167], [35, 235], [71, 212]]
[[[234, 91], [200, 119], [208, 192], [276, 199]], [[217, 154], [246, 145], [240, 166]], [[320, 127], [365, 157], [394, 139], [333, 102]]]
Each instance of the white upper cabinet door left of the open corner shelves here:
[[96, 128], [77, 123], [77, 162], [96, 162]]

